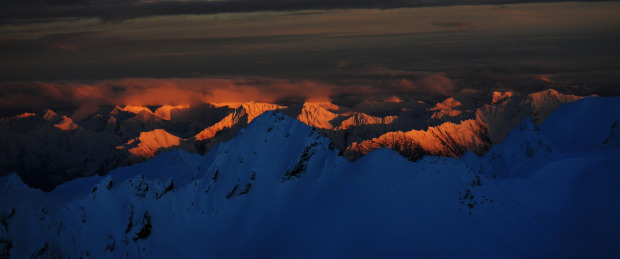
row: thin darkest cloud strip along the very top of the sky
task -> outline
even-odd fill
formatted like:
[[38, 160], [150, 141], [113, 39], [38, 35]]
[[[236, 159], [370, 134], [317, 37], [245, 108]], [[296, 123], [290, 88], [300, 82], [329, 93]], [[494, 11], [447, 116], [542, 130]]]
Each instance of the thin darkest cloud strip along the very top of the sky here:
[[[502, 5], [513, 3], [566, 2], [566, 0], [229, 0], [229, 1], [140, 1], [140, 0], [4, 0], [0, 22], [11, 19], [98, 17], [103, 21], [155, 15], [216, 14], [257, 11], [331, 10], [357, 8], [403, 8], [451, 5]], [[586, 1], [590, 2], [590, 1]], [[447, 26], [451, 26], [447, 24]]]

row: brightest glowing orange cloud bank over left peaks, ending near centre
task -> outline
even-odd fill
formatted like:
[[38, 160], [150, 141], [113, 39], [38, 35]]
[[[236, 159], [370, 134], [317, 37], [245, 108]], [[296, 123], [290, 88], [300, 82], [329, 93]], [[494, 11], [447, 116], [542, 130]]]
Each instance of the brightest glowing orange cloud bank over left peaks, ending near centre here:
[[270, 78], [152, 79], [3, 83], [3, 109], [82, 105], [179, 105], [198, 102], [325, 100], [335, 88], [313, 81]]

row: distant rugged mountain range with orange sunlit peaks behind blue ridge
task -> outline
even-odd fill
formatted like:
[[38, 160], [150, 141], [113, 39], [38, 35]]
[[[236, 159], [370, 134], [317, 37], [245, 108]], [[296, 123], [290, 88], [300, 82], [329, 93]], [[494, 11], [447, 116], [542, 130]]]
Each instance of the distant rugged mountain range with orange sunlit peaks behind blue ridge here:
[[459, 157], [467, 150], [482, 154], [526, 117], [539, 124], [561, 104], [580, 98], [547, 90], [460, 95], [434, 104], [366, 102], [353, 108], [323, 102], [162, 106], [154, 112], [140, 106], [48, 109], [0, 119], [0, 140], [6, 143], [0, 146], [0, 175], [17, 172], [28, 184], [50, 190], [170, 149], [205, 154], [272, 110], [315, 127], [350, 159], [382, 147], [410, 160], [429, 154]]

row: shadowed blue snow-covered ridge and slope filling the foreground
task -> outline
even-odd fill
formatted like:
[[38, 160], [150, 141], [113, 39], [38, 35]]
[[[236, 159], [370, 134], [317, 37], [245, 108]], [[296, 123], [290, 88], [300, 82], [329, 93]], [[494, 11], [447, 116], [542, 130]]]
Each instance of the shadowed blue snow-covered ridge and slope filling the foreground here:
[[317, 130], [267, 112], [205, 156], [171, 151], [50, 193], [0, 178], [0, 253], [614, 257], [619, 105], [587, 98], [523, 122], [483, 157], [415, 163], [389, 149], [350, 162]]

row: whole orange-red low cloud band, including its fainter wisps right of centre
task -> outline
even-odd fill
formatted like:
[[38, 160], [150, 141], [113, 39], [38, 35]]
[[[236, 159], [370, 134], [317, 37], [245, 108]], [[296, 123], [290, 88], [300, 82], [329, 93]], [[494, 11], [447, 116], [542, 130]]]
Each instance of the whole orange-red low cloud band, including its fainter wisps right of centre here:
[[449, 95], [454, 82], [442, 74], [418, 80], [337, 85], [315, 80], [264, 77], [233, 79], [129, 78], [83, 82], [0, 83], [0, 110], [75, 107], [83, 105], [181, 105], [194, 103], [394, 100], [419, 94]]

